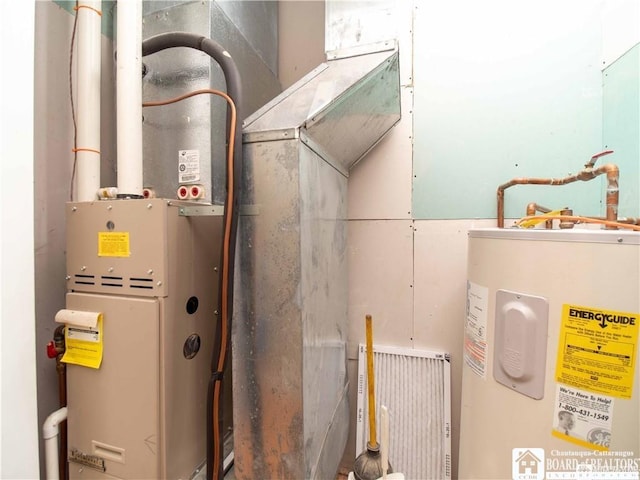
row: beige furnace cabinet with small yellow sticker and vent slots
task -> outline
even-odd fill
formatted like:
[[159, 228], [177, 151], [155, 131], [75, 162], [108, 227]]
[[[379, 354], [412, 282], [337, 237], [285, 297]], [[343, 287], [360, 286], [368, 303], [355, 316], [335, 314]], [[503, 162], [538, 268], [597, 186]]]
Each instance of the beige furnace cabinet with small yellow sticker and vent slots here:
[[102, 314], [103, 349], [99, 368], [68, 364], [71, 479], [190, 478], [204, 462], [217, 208], [162, 199], [67, 206], [66, 307]]

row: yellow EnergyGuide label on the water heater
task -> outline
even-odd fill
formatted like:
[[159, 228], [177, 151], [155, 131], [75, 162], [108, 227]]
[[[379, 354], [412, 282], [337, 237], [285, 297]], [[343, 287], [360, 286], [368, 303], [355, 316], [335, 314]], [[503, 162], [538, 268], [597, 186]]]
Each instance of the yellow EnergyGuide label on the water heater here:
[[631, 398], [640, 314], [563, 305], [556, 380]]

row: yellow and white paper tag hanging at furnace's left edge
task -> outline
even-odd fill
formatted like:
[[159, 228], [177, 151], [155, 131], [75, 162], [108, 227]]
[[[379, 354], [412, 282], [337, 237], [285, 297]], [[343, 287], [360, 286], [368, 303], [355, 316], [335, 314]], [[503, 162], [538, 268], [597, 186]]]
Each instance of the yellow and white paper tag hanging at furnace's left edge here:
[[67, 325], [62, 361], [83, 367], [100, 368], [102, 363], [102, 314], [95, 328]]

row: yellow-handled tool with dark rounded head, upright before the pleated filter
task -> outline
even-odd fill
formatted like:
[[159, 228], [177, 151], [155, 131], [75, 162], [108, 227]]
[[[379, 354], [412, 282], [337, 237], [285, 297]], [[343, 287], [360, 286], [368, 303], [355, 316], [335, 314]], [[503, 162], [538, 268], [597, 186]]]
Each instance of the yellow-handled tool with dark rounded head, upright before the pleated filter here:
[[[353, 475], [356, 480], [376, 480], [383, 474], [380, 444], [376, 440], [376, 398], [373, 381], [373, 326], [371, 315], [366, 316], [367, 334], [367, 395], [369, 400], [369, 441], [367, 448], [356, 458]], [[391, 466], [387, 470], [391, 472]]]

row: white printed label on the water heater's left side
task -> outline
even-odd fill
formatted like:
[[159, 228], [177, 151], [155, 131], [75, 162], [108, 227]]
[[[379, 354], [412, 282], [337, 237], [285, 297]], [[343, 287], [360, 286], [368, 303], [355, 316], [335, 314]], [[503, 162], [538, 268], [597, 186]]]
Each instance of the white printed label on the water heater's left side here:
[[487, 308], [489, 289], [467, 281], [464, 361], [482, 378], [487, 372]]

